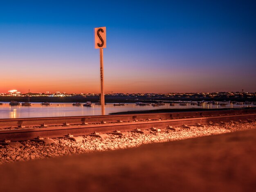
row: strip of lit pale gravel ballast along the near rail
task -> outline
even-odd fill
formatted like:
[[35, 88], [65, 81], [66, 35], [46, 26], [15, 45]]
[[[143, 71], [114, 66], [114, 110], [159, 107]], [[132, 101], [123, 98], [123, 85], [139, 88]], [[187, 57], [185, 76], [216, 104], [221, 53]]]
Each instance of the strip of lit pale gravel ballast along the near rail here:
[[150, 131], [150, 134], [123, 132], [124, 136], [108, 134], [109, 137], [101, 139], [94, 136], [83, 136], [85, 141], [75, 142], [67, 138], [55, 138], [54, 143], [45, 145], [35, 141], [22, 141], [19, 148], [0, 145], [0, 164], [13, 161], [27, 161], [33, 159], [52, 158], [70, 154], [86, 152], [117, 150], [137, 147], [146, 143], [159, 143], [182, 140], [199, 136], [223, 134], [256, 127], [255, 121], [229, 122], [207, 125], [194, 125], [180, 127], [179, 131], [162, 128], [161, 132]]

